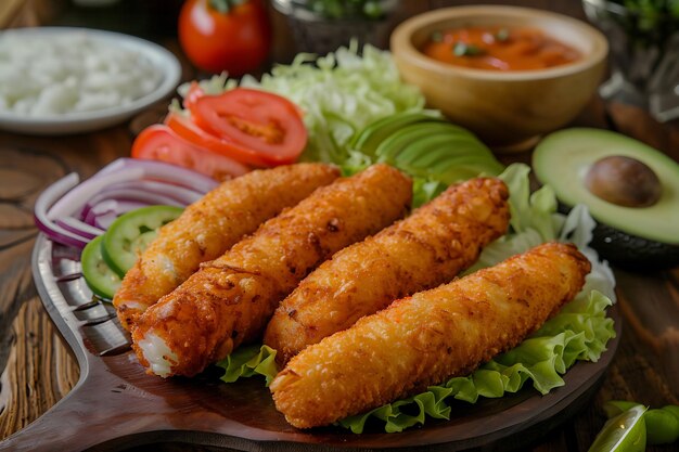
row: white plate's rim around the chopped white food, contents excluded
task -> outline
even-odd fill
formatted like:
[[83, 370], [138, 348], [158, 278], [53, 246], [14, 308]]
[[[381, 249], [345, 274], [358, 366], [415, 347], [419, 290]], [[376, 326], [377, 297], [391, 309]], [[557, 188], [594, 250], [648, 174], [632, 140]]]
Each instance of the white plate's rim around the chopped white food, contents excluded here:
[[0, 129], [27, 134], [62, 135], [103, 129], [129, 119], [149, 105], [164, 99], [177, 88], [181, 78], [179, 61], [169, 51], [144, 39], [113, 31], [73, 27], [16, 28], [0, 33], [12, 34], [18, 38], [43, 37], [60, 34], [78, 33], [89, 39], [115, 44], [143, 54], [163, 74], [157, 88], [124, 106], [102, 108], [91, 112], [66, 113], [51, 117], [20, 116], [10, 112], [0, 112]]

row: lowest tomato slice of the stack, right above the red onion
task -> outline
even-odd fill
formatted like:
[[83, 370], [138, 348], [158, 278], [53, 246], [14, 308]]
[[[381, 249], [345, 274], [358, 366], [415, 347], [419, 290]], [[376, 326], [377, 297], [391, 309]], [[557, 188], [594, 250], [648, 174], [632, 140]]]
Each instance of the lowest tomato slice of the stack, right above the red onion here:
[[132, 144], [132, 157], [167, 162], [222, 181], [249, 171], [245, 165], [179, 137], [169, 127], [146, 127]]

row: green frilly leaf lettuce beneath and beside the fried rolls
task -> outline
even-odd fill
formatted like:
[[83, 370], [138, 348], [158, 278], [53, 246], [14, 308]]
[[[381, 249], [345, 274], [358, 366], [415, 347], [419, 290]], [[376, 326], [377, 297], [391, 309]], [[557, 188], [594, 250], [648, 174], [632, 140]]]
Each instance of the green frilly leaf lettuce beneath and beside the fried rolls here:
[[[615, 279], [608, 264], [600, 261], [597, 251], [588, 246], [594, 222], [585, 206], [576, 206], [567, 217], [558, 214], [554, 193], [548, 186], [530, 195], [528, 173], [526, 165], [515, 164], [500, 175], [510, 188], [511, 231], [486, 247], [478, 262], [466, 273], [495, 266], [548, 241], [569, 241], [592, 263], [582, 290], [529, 338], [483, 364], [471, 375], [451, 378], [420, 395], [347, 417], [338, 425], [360, 434], [372, 417], [383, 422], [387, 432], [401, 431], [424, 424], [426, 417], [449, 418], [450, 406], [446, 403], [449, 398], [475, 403], [479, 396], [498, 398], [516, 392], [528, 380], [545, 395], [564, 385], [561, 375], [576, 361], [597, 361], [605, 351], [608, 339], [615, 337], [613, 320], [605, 315], [605, 309], [615, 302]], [[439, 189], [421, 182], [418, 191], [422, 196], [434, 196]], [[247, 362], [246, 366], [252, 369], [261, 360], [272, 361], [270, 357], [274, 353], [266, 346], [236, 351], [241, 352], [243, 358], [218, 364], [231, 375], [230, 380], [252, 374], [247, 369], [239, 367], [240, 362]], [[277, 370], [274, 366], [267, 369], [271, 372], [266, 374], [268, 386]]]

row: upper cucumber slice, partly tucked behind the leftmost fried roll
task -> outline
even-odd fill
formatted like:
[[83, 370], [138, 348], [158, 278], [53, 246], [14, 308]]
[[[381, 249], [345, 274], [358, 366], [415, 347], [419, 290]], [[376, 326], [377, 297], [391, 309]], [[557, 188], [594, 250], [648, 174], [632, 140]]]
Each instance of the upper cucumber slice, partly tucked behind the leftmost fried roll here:
[[150, 206], [118, 217], [103, 235], [102, 256], [120, 277], [155, 238], [157, 230], [181, 215], [183, 208]]

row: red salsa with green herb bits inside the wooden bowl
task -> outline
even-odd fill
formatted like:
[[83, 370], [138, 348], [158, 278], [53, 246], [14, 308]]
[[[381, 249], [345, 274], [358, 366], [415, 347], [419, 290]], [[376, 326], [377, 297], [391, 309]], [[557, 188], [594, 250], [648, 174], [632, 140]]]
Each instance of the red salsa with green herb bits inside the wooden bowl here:
[[444, 63], [489, 70], [543, 69], [581, 57], [537, 28], [502, 26], [435, 31], [422, 52]]

